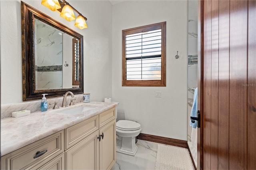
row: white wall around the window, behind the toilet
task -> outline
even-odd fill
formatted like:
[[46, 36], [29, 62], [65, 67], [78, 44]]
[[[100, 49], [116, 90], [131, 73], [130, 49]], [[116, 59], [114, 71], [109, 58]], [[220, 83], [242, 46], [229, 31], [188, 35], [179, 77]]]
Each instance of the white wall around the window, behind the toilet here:
[[[144, 134], [187, 140], [187, 1], [125, 1], [112, 11], [112, 100], [120, 102], [118, 119], [138, 121]], [[166, 87], [122, 87], [122, 30], [164, 21]], [[154, 97], [155, 91], [162, 98]]]

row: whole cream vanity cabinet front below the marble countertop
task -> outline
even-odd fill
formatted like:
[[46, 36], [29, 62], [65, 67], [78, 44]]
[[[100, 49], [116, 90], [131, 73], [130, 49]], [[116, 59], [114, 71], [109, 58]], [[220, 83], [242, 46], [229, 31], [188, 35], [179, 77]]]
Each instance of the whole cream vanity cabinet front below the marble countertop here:
[[110, 170], [115, 161], [116, 117], [111, 108], [2, 156], [1, 169]]

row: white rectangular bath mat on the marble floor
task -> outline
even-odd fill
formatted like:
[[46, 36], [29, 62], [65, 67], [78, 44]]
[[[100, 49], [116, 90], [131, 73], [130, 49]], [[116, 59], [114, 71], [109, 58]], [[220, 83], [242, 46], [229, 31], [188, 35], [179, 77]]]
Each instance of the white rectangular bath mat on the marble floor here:
[[187, 148], [158, 144], [155, 170], [194, 170]]

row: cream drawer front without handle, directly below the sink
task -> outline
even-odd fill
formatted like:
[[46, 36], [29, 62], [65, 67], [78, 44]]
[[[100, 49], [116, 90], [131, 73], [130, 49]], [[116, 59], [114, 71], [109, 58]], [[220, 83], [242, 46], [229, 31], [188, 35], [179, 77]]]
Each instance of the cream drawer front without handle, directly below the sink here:
[[83, 122], [75, 124], [74, 126], [66, 128], [65, 150], [98, 130], [98, 128], [98, 116], [94, 116], [92, 118], [84, 120]]

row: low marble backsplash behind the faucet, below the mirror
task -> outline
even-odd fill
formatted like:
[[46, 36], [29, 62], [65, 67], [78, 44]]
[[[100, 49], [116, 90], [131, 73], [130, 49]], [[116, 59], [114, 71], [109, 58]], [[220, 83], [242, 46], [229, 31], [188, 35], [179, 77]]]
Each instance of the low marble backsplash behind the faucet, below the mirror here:
[[[75, 94], [74, 95], [74, 103], [80, 103], [83, 102], [83, 94]], [[47, 96], [46, 96], [47, 98]], [[70, 104], [71, 96], [67, 96], [67, 104]], [[63, 97], [58, 98], [47, 98], [48, 102], [48, 110], [52, 110], [54, 102], [58, 103], [58, 106], [61, 107], [62, 105]], [[50, 105], [50, 103], [52, 105]], [[30, 113], [38, 112], [40, 111], [40, 104], [41, 100], [34, 100], [34, 101], [28, 101], [28, 102], [22, 102], [22, 103], [11, 103], [11, 104], [2, 104], [1, 105], [1, 119], [12, 117], [12, 112], [17, 112], [20, 110], [30, 110]]]

